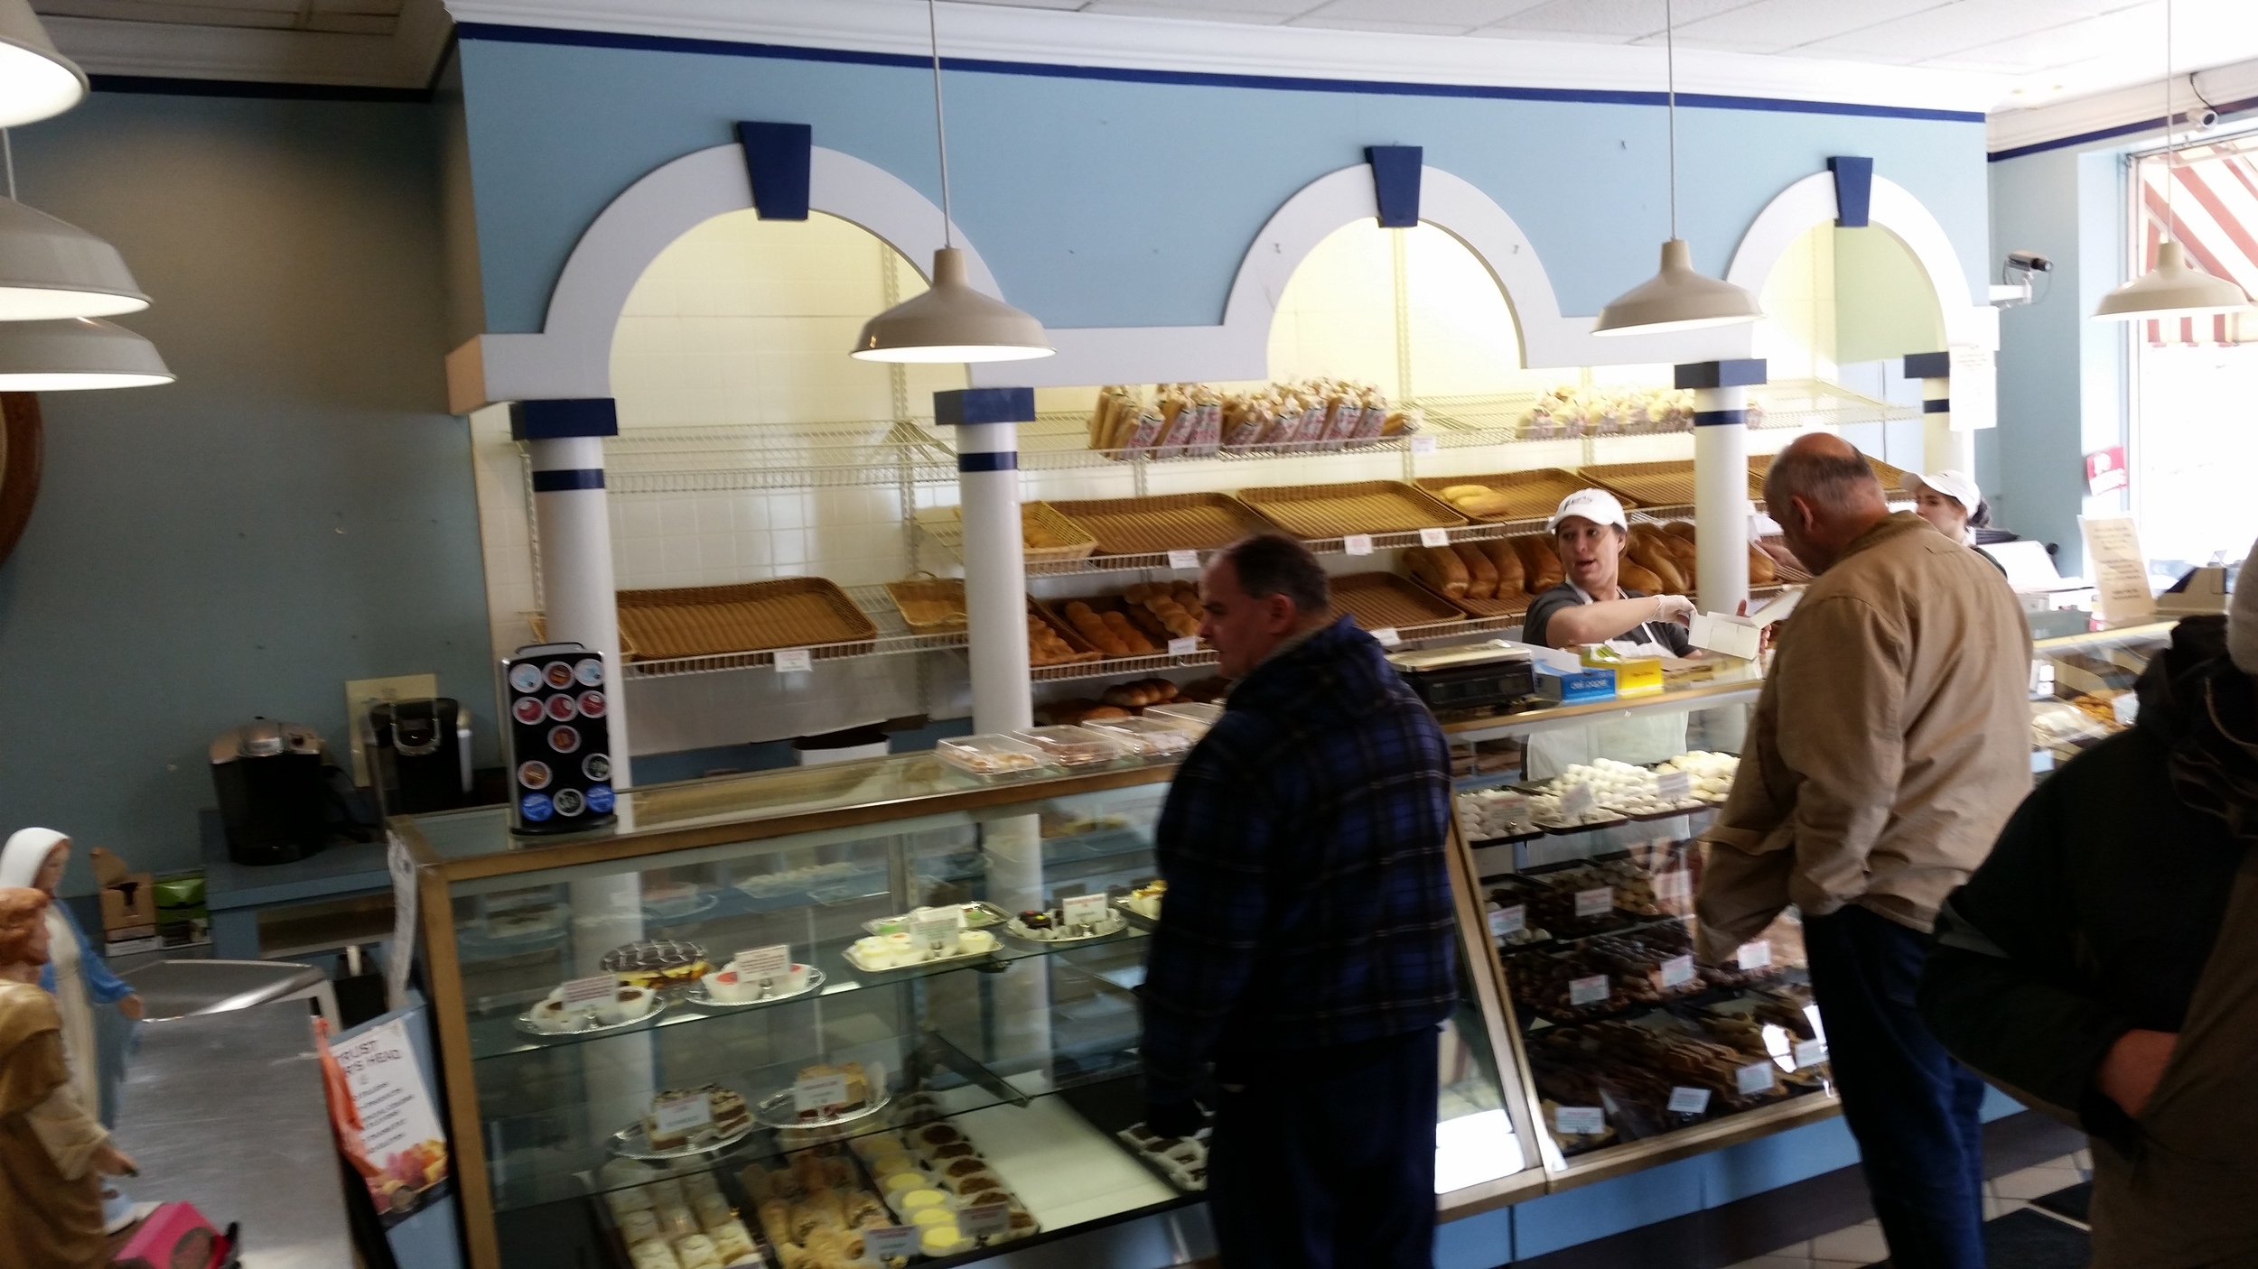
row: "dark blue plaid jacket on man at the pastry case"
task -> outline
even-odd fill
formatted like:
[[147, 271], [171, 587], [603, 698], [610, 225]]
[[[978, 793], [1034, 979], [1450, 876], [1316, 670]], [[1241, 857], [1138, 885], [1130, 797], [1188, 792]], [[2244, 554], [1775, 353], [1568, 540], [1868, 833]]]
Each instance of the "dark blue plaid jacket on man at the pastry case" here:
[[1450, 1016], [1447, 829], [1443, 729], [1348, 616], [1246, 675], [1161, 811], [1147, 1097]]

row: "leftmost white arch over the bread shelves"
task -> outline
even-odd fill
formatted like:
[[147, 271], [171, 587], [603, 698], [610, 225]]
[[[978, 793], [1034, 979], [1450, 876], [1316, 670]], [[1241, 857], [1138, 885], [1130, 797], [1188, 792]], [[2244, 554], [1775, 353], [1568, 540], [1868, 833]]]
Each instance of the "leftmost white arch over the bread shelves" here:
[[[465, 391], [472, 384], [481, 400], [470, 404], [612, 395], [612, 332], [644, 269], [684, 233], [750, 205], [752, 181], [734, 145], [686, 154], [628, 185], [574, 244], [540, 334], [481, 334], [474, 341], [479, 366], [461, 366], [463, 350], [447, 359], [454, 409], [470, 409]], [[851, 154], [811, 151], [808, 208], [867, 228], [919, 273], [942, 246], [942, 210], [892, 172]], [[1003, 298], [964, 230], [953, 233], [964, 251], [966, 282]]]

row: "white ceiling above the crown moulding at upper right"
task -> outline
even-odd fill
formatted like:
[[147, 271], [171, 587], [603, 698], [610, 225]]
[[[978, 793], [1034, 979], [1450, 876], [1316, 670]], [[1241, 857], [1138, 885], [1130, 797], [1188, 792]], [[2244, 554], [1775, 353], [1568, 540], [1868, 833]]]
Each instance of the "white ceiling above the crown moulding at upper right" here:
[[[966, 0], [1201, 23], [1660, 45], [1664, 0]], [[2005, 77], [2001, 108], [2163, 75], [2165, 0], [1675, 0], [1680, 47]], [[2172, 0], [2179, 72], [2258, 56], [2258, 0]]]

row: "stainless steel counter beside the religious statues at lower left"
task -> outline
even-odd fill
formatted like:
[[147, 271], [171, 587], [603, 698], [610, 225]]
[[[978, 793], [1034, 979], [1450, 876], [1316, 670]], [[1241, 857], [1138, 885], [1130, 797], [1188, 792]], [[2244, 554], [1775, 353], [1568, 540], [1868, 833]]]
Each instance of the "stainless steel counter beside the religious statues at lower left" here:
[[352, 1233], [305, 1000], [142, 1027], [117, 1111], [138, 1201], [244, 1226], [246, 1269], [350, 1269]]

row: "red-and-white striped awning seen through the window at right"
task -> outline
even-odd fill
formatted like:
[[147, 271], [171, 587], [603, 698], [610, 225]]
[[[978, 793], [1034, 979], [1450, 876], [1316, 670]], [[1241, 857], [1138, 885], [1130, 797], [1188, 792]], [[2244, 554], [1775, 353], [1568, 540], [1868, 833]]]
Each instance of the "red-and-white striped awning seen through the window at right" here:
[[[2147, 156], [2141, 178], [2141, 269], [2156, 266], [2156, 244], [2172, 226], [2188, 264], [2213, 278], [2233, 278], [2258, 296], [2258, 138], [2179, 147], [2172, 163]], [[2170, 194], [2165, 192], [2170, 183]], [[2143, 323], [2150, 343], [2253, 343], [2249, 314]]]

